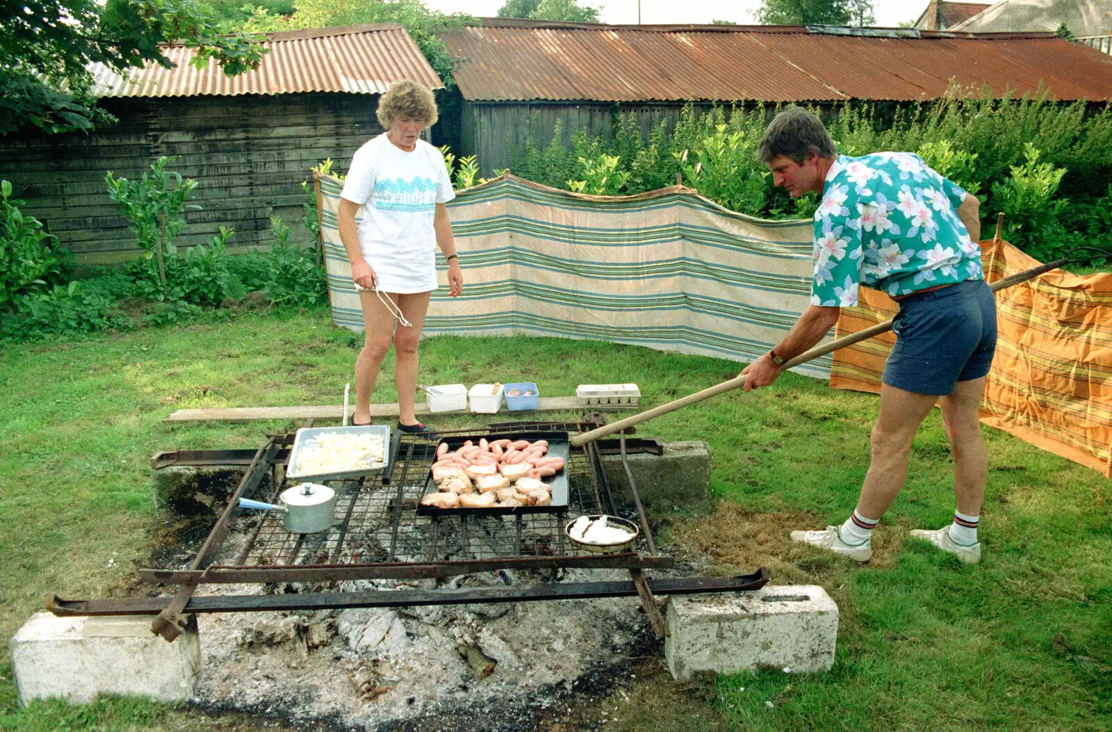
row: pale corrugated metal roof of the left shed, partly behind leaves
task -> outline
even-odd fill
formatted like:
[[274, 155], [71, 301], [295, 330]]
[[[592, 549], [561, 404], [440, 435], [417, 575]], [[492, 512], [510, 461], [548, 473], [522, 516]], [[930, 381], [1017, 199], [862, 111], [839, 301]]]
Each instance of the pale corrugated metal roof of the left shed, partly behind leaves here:
[[302, 91], [381, 93], [395, 81], [411, 79], [429, 89], [444, 83], [417, 43], [396, 23], [348, 26], [268, 33], [269, 53], [255, 71], [225, 76], [215, 61], [189, 65], [193, 49], [169, 46], [163, 53], [177, 67], [148, 62], [125, 79], [101, 65], [90, 67], [101, 97], [191, 97], [197, 95], [281, 95]]

